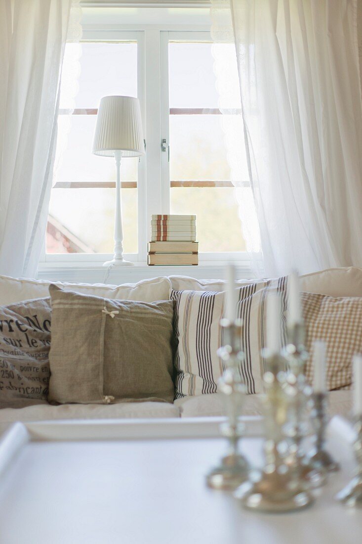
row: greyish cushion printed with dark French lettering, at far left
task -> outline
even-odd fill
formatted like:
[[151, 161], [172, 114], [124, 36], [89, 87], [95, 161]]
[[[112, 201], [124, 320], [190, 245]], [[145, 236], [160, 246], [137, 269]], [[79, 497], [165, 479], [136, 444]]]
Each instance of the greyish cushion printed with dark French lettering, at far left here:
[[0, 407], [46, 401], [51, 341], [50, 299], [0, 307]]

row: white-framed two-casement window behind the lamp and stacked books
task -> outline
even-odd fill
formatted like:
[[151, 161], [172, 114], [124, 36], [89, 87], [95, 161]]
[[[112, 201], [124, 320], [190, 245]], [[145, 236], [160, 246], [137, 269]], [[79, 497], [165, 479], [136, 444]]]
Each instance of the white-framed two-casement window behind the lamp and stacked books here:
[[152, 213], [197, 214], [200, 262], [242, 258], [210, 34], [85, 30], [80, 45], [67, 44], [63, 72], [74, 47], [79, 90], [69, 115], [62, 86], [46, 260], [101, 262], [113, 253], [115, 163], [91, 153], [99, 101], [111, 94], [140, 98], [146, 139], [146, 156], [121, 166], [125, 258], [146, 261]]

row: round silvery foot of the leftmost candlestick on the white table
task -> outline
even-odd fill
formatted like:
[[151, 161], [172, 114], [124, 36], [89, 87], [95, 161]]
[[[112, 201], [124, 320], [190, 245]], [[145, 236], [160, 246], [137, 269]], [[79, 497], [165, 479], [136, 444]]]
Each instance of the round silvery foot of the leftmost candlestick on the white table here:
[[233, 491], [248, 478], [249, 466], [244, 456], [226, 455], [220, 465], [209, 472], [206, 483], [211, 489]]

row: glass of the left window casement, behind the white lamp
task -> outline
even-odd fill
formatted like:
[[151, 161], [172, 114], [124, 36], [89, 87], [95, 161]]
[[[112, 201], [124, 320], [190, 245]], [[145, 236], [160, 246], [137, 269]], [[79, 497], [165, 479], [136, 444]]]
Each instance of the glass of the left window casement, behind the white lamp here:
[[[80, 47], [79, 90], [75, 108], [96, 109], [102, 96], [137, 96], [137, 44], [82, 43], [67, 44], [63, 70], [76, 70]], [[70, 78], [72, 81], [72, 78]], [[65, 85], [61, 89], [61, 107], [70, 107]], [[57, 188], [57, 183], [113, 182], [115, 160], [92, 154], [96, 115], [59, 115], [55, 187], [52, 189], [47, 227], [48, 253], [113, 253], [115, 189]], [[137, 182], [138, 159], [121, 163], [121, 180]], [[64, 185], [63, 185], [64, 187]], [[138, 252], [137, 189], [122, 189], [124, 252]]]

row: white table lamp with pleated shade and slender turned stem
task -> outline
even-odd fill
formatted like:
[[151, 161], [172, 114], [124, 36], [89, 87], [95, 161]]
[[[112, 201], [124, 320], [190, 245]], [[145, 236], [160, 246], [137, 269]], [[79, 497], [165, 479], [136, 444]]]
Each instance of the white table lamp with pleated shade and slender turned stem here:
[[141, 109], [138, 98], [104, 96], [99, 104], [92, 153], [116, 160], [116, 212], [114, 226], [114, 256], [103, 266], [124, 266], [121, 211], [121, 158], [145, 154]]

